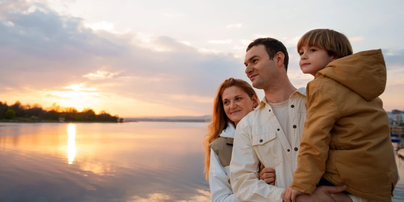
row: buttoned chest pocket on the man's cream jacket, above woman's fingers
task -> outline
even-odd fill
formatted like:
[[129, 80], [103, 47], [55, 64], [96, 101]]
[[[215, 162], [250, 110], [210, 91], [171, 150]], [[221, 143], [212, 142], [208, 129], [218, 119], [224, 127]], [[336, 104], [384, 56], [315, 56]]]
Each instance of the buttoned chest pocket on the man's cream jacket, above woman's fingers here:
[[261, 156], [265, 168], [275, 168], [280, 163], [280, 147], [275, 132], [255, 135], [252, 137], [252, 147]]

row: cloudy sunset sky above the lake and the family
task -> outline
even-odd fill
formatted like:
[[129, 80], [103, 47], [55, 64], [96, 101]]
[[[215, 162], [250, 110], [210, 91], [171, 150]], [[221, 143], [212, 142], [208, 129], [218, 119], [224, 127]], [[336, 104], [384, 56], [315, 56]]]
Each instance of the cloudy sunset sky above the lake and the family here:
[[[345, 34], [354, 53], [383, 50], [386, 111], [404, 109], [401, 0], [0, 0], [0, 101], [91, 107], [120, 117], [203, 116], [223, 80], [251, 83], [247, 45], [282, 41], [305, 87], [296, 44], [311, 29]], [[255, 89], [259, 98], [262, 90]]]

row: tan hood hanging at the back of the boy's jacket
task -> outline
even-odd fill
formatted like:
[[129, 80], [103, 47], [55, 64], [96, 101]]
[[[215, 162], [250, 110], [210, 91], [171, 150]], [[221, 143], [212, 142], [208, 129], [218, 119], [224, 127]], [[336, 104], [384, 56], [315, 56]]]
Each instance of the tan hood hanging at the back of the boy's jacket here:
[[347, 86], [367, 101], [384, 92], [387, 80], [381, 49], [366, 50], [332, 61], [316, 76], [319, 74]]

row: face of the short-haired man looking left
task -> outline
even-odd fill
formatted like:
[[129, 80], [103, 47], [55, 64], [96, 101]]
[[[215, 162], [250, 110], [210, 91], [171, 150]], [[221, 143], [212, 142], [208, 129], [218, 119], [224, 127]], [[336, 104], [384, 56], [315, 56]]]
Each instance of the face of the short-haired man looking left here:
[[277, 75], [275, 62], [274, 60], [269, 60], [269, 55], [264, 45], [250, 48], [246, 53], [244, 65], [246, 65], [246, 74], [254, 88], [266, 88], [272, 78]]

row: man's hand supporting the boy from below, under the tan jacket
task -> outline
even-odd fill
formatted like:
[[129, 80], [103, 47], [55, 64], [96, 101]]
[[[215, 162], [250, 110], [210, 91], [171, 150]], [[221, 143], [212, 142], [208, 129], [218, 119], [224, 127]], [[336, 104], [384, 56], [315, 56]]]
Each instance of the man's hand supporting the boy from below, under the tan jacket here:
[[[314, 191], [313, 194], [304, 194], [296, 198], [297, 202], [352, 202], [351, 198], [348, 196], [341, 197], [343, 191], [347, 188], [346, 185], [343, 186], [320, 186]], [[335, 198], [333, 198], [335, 197]], [[335, 199], [335, 200], [334, 200]]]

